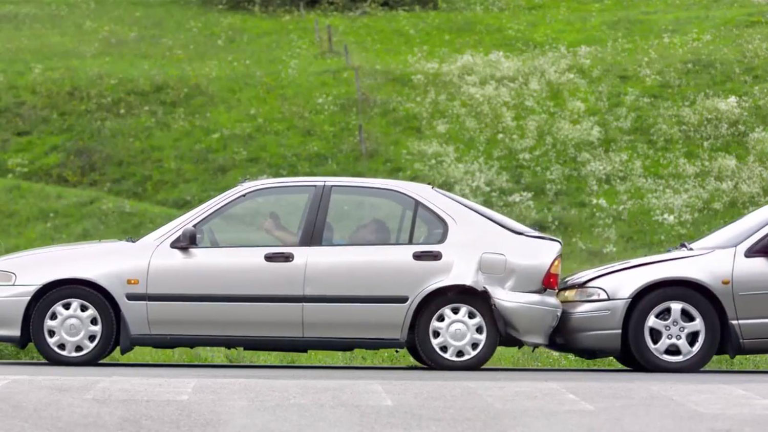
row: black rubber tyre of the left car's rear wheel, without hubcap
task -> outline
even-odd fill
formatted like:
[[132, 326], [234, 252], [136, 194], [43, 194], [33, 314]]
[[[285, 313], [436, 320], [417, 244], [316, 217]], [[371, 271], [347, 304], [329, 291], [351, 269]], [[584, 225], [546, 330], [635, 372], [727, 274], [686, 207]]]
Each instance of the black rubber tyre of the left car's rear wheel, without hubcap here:
[[[430, 335], [430, 325], [432, 318], [445, 306], [449, 305], [468, 305], [475, 309], [481, 316], [485, 325], [483, 331], [485, 331], [485, 344], [482, 345], [479, 351], [475, 352], [475, 355], [467, 360], [457, 361], [450, 360], [443, 357], [432, 345]], [[434, 298], [429, 302], [419, 316], [416, 317], [415, 325], [415, 349], [419, 351], [419, 355], [424, 360], [424, 364], [429, 368], [442, 369], [447, 371], [471, 371], [482, 368], [488, 360], [491, 359], [498, 346], [498, 328], [494, 320], [491, 305], [485, 301], [484, 298], [479, 295], [445, 295], [439, 298]], [[417, 360], [418, 361], [418, 360]]]

